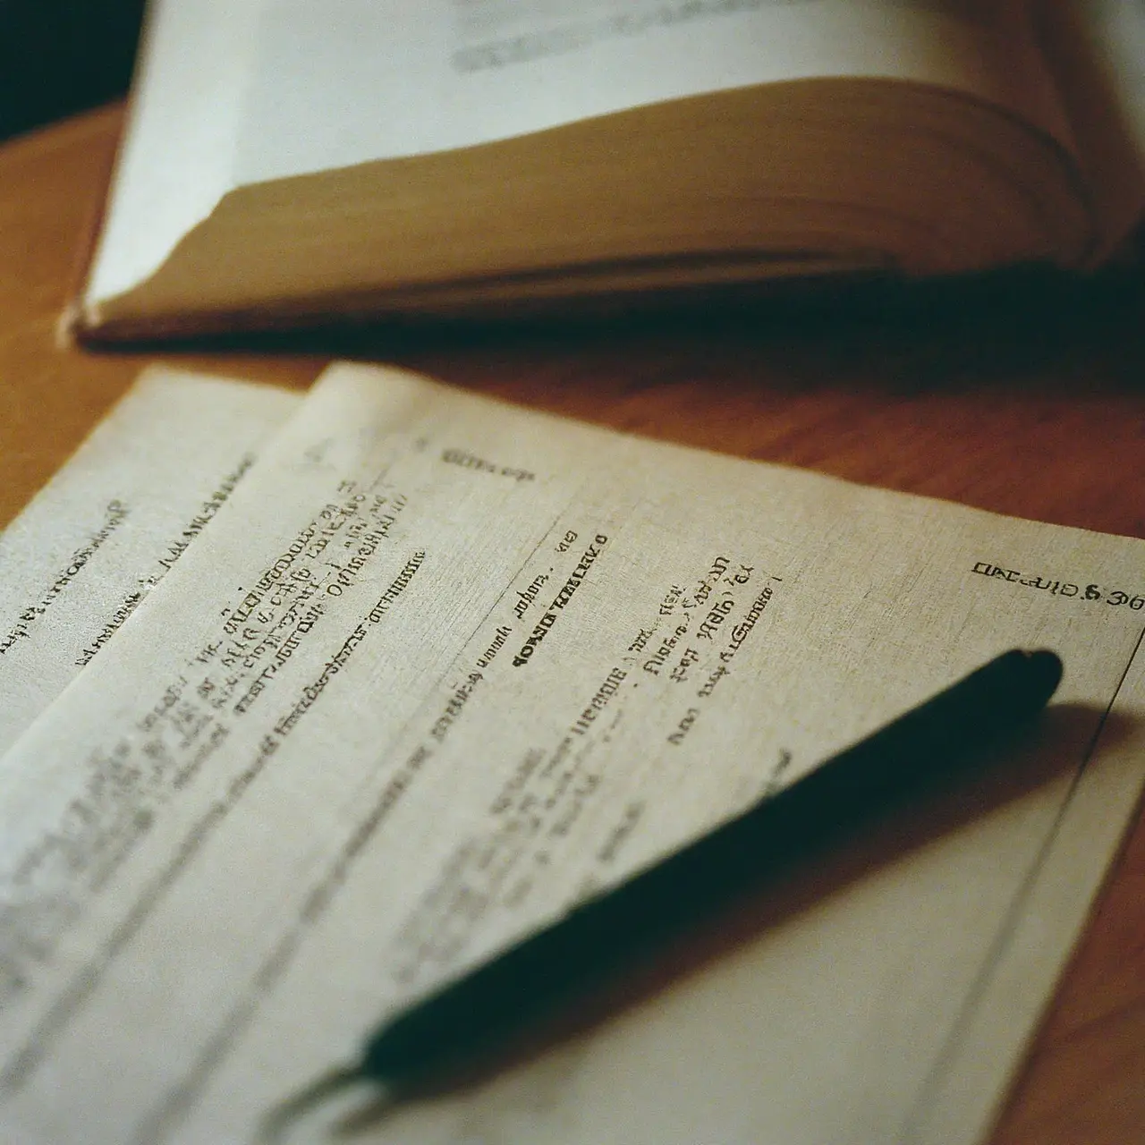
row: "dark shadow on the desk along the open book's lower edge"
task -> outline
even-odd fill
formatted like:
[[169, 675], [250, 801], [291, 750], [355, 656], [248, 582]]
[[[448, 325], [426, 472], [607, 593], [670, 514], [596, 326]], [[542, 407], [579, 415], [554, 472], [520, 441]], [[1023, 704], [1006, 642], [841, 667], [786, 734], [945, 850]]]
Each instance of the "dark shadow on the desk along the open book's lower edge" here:
[[639, 349], [645, 357], [679, 362], [692, 346], [722, 360], [750, 352], [782, 364], [798, 386], [877, 376], [884, 387], [907, 393], [968, 382], [1013, 385], [1022, 378], [1052, 385], [1079, 364], [1092, 373], [1096, 360], [1106, 379], [1139, 387], [1145, 385], [1145, 242], [1140, 245], [1138, 263], [1091, 276], [1019, 267], [922, 282], [784, 281], [532, 308], [350, 317], [311, 329], [139, 342], [134, 349], [370, 361], [489, 349], [503, 356]]

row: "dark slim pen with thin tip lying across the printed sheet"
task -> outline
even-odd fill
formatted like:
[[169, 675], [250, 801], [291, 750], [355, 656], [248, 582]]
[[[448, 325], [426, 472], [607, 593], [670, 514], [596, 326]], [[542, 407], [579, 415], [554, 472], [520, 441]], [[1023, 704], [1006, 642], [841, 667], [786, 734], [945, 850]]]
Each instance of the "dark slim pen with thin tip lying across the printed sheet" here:
[[1042, 710], [1051, 652], [1004, 653], [682, 850], [570, 909], [382, 1025], [360, 1060], [279, 1106], [270, 1138], [307, 1106], [371, 1081], [400, 1098], [496, 1052], [758, 885], [793, 850], [966, 771]]

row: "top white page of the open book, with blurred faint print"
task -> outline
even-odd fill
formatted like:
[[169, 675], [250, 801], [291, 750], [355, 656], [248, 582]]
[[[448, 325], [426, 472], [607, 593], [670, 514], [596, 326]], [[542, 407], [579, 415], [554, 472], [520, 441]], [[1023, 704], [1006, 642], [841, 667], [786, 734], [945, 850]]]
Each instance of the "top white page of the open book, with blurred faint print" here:
[[820, 76], [918, 80], [1039, 121], [1028, 98], [1033, 42], [1020, 24], [1012, 2], [965, 0], [437, 0], [416, 8], [337, 0], [322, 9], [268, 0], [236, 180], [445, 151]]

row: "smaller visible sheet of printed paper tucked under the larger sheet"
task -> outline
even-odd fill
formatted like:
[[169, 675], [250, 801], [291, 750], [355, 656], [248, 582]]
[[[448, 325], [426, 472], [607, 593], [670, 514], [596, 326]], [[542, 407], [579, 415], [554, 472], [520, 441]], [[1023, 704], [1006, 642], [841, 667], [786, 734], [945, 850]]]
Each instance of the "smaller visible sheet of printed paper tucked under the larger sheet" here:
[[116, 634], [298, 401], [149, 371], [0, 535], [0, 752]]

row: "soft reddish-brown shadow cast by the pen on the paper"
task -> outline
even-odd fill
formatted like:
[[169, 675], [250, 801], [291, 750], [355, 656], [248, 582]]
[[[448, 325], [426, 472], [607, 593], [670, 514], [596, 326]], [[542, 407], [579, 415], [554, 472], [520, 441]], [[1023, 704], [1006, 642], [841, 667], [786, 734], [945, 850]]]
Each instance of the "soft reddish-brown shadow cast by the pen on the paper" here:
[[[946, 783], [941, 791], [884, 805], [863, 814], [860, 823], [832, 826], [813, 844], [784, 855], [756, 889], [714, 913], [697, 932], [662, 947], [650, 962], [623, 971], [608, 986], [595, 988], [591, 997], [577, 997], [559, 1017], [530, 1027], [481, 1061], [460, 1064], [432, 1082], [397, 1093], [368, 1098], [342, 1115], [334, 1136], [360, 1137], [380, 1127], [396, 1105], [475, 1093], [554, 1049], [574, 1042], [587, 1047], [593, 1030], [625, 1011], [655, 1004], [657, 996], [729, 958], [768, 930], [1049, 784], [1061, 784], [1058, 806], [1065, 806], [1076, 779], [1087, 768], [1100, 766], [1098, 737], [1103, 750], [1115, 747], [1134, 722], [1091, 705], [1051, 706], [1034, 726], [984, 753], [973, 775]], [[1051, 824], [1033, 848], [1032, 866], [1052, 831]], [[950, 889], [951, 894], [961, 891]]]

